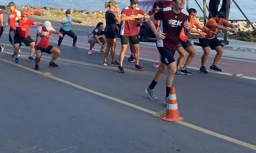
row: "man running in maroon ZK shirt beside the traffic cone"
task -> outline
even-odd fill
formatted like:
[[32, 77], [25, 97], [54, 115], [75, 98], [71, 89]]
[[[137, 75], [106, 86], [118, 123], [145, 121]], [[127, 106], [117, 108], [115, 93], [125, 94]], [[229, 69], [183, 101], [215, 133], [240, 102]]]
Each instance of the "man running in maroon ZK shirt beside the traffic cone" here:
[[[157, 37], [157, 49], [161, 54], [161, 62], [154, 80], [145, 91], [151, 100], [157, 100], [158, 98], [155, 95], [154, 88], [167, 69], [165, 104], [168, 103], [170, 87], [172, 87], [174, 74], [177, 69], [174, 54], [181, 29], [184, 27], [185, 35], [188, 35], [191, 31], [188, 22], [188, 12], [183, 10], [185, 0], [173, 0], [173, 4], [173, 7], [163, 8], [154, 13], [147, 21], [148, 26], [150, 26]], [[157, 31], [154, 24], [157, 20], [160, 20], [159, 31]]]

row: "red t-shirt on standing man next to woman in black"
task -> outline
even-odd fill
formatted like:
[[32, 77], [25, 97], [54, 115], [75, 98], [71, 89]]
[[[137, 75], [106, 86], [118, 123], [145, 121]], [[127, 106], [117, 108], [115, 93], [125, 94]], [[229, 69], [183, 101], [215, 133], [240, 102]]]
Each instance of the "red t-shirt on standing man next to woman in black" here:
[[[126, 16], [136, 16], [137, 14], [144, 15], [145, 12], [139, 8], [132, 10], [130, 7], [126, 7], [122, 9], [121, 14], [125, 14]], [[138, 18], [122, 21], [121, 23], [121, 31], [120, 35], [124, 36], [135, 36], [137, 35], [137, 23]]]

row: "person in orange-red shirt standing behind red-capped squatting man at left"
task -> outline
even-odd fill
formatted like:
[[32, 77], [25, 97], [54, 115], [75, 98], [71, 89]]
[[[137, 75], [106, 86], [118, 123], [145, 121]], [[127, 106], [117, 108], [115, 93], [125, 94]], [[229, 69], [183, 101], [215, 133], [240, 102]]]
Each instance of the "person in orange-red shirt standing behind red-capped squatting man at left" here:
[[[14, 37], [15, 31], [16, 31], [16, 27], [15, 27], [14, 23], [16, 22], [16, 20], [20, 19], [21, 14], [18, 10], [16, 10], [16, 5], [14, 2], [10, 2], [7, 7], [10, 8], [10, 11], [8, 12], [8, 20], [4, 26], [4, 30], [7, 27], [7, 25], [10, 24], [9, 41], [14, 47], [13, 37]], [[19, 50], [19, 52], [20, 52], [20, 50]], [[18, 56], [20, 56], [19, 53], [18, 53]], [[13, 54], [12, 57], [15, 57], [15, 55]]]

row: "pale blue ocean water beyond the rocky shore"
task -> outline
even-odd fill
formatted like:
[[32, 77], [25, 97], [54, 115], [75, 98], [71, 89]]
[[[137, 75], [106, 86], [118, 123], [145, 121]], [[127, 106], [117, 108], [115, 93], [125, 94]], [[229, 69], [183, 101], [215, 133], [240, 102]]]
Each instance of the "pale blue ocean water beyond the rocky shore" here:
[[[200, 6], [203, 8], [203, 1], [202, 0], [197, 0]], [[52, 6], [56, 8], [77, 8], [77, 9], [87, 9], [90, 11], [106, 11], [104, 9], [104, 3], [106, 2], [105, 0], [19, 0], [19, 1], [13, 1], [16, 5], [39, 5], [39, 6]], [[231, 1], [232, 2], [232, 1]], [[254, 8], [256, 6], [256, 0], [236, 0], [237, 4], [240, 6], [244, 14], [249, 18], [250, 21], [256, 22], [256, 15], [254, 13]], [[6, 0], [0, 0], [0, 5], [7, 5], [9, 1]], [[119, 5], [120, 10], [126, 6], [128, 6], [130, 3], [129, 0], [117, 0], [117, 4]], [[222, 1], [221, 1], [222, 3]], [[209, 0], [206, 0], [206, 4], [209, 4]], [[189, 8], [193, 7], [197, 10], [198, 15], [203, 15], [202, 11], [198, 7], [197, 3], [195, 0], [189, 0]], [[219, 6], [219, 9], [221, 8], [221, 4]], [[207, 12], [208, 16], [208, 12]], [[244, 20], [244, 16], [242, 13], [239, 11], [239, 9], [231, 3], [230, 7], [230, 15], [229, 19], [242, 19]]]

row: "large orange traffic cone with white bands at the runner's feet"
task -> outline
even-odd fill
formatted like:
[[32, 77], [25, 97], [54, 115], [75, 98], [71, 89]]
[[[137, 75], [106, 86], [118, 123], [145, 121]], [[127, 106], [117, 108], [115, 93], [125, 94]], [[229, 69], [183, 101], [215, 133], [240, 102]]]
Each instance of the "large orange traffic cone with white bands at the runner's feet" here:
[[165, 113], [165, 116], [162, 117], [161, 119], [165, 120], [165, 121], [169, 121], [169, 122], [176, 122], [176, 121], [184, 119], [183, 117], [180, 117], [180, 115], [179, 115], [179, 109], [178, 109], [178, 104], [177, 104], [176, 93], [175, 93], [174, 87], [170, 88], [168, 104], [166, 107], [166, 113]]

